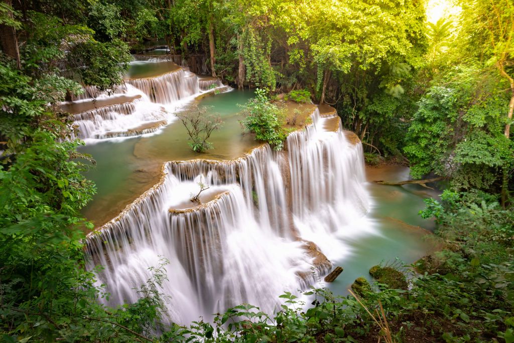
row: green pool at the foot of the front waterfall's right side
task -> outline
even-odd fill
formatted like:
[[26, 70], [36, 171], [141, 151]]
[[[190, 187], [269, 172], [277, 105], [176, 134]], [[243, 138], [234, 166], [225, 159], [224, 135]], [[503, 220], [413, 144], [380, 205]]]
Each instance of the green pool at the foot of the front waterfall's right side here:
[[[391, 182], [409, 179], [409, 168], [385, 166], [367, 168], [368, 180], [384, 179]], [[349, 251], [335, 266], [343, 267], [343, 273], [328, 283], [335, 294], [348, 294], [347, 290], [358, 277], [372, 281], [368, 270], [380, 262], [399, 261], [411, 264], [434, 251], [436, 246], [430, 239], [432, 220], [422, 219], [417, 213], [424, 209], [424, 198], [437, 197], [438, 192], [419, 185], [384, 186], [369, 184], [372, 206], [363, 225], [370, 225], [371, 232], [345, 237]], [[358, 226], [357, 226], [358, 228]], [[366, 227], [360, 229], [366, 230]]]

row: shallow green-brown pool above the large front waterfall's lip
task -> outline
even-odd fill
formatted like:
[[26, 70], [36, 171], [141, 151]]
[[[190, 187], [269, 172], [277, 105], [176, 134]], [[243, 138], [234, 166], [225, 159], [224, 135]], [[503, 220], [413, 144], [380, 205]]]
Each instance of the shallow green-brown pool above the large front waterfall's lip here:
[[242, 135], [238, 120], [241, 108], [253, 97], [250, 91], [232, 91], [199, 100], [199, 105], [212, 106], [224, 120], [223, 127], [212, 133], [209, 141], [214, 149], [195, 153], [188, 146], [188, 135], [180, 121], [174, 121], [161, 133], [122, 141], [101, 141], [81, 147], [97, 161], [85, 175], [97, 185], [94, 196], [83, 214], [96, 226], [113, 219], [144, 191], [157, 183], [162, 164], [169, 160], [194, 158], [232, 159], [258, 146], [250, 135]]

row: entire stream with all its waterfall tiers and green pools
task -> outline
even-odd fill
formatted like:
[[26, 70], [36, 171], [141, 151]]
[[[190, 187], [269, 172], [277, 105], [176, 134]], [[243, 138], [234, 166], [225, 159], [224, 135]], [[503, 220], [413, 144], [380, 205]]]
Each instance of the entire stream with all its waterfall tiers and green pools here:
[[[86, 141], [79, 151], [97, 162], [85, 174], [97, 194], [83, 214], [97, 227], [86, 250], [89, 269], [104, 266], [98, 286], [107, 284], [111, 298], [102, 301], [136, 301], [134, 287], [161, 256], [170, 261], [170, 320], [207, 319], [242, 302], [272, 312], [280, 294], [325, 285], [335, 266], [344, 272], [327, 286], [345, 295], [357, 277], [371, 280], [371, 266], [410, 264], [436, 248], [427, 239], [434, 223], [417, 212], [437, 191], [371, 183], [407, 179], [409, 169], [364, 168], [360, 142], [332, 110], [287, 104], [313, 123], [297, 125], [286, 151], [272, 152], [242, 133], [240, 105], [253, 92], [227, 92], [215, 79], [146, 58], [132, 63], [113, 96], [65, 104]], [[174, 115], [192, 102], [225, 122], [202, 154]], [[199, 181], [210, 189], [191, 204]]]

